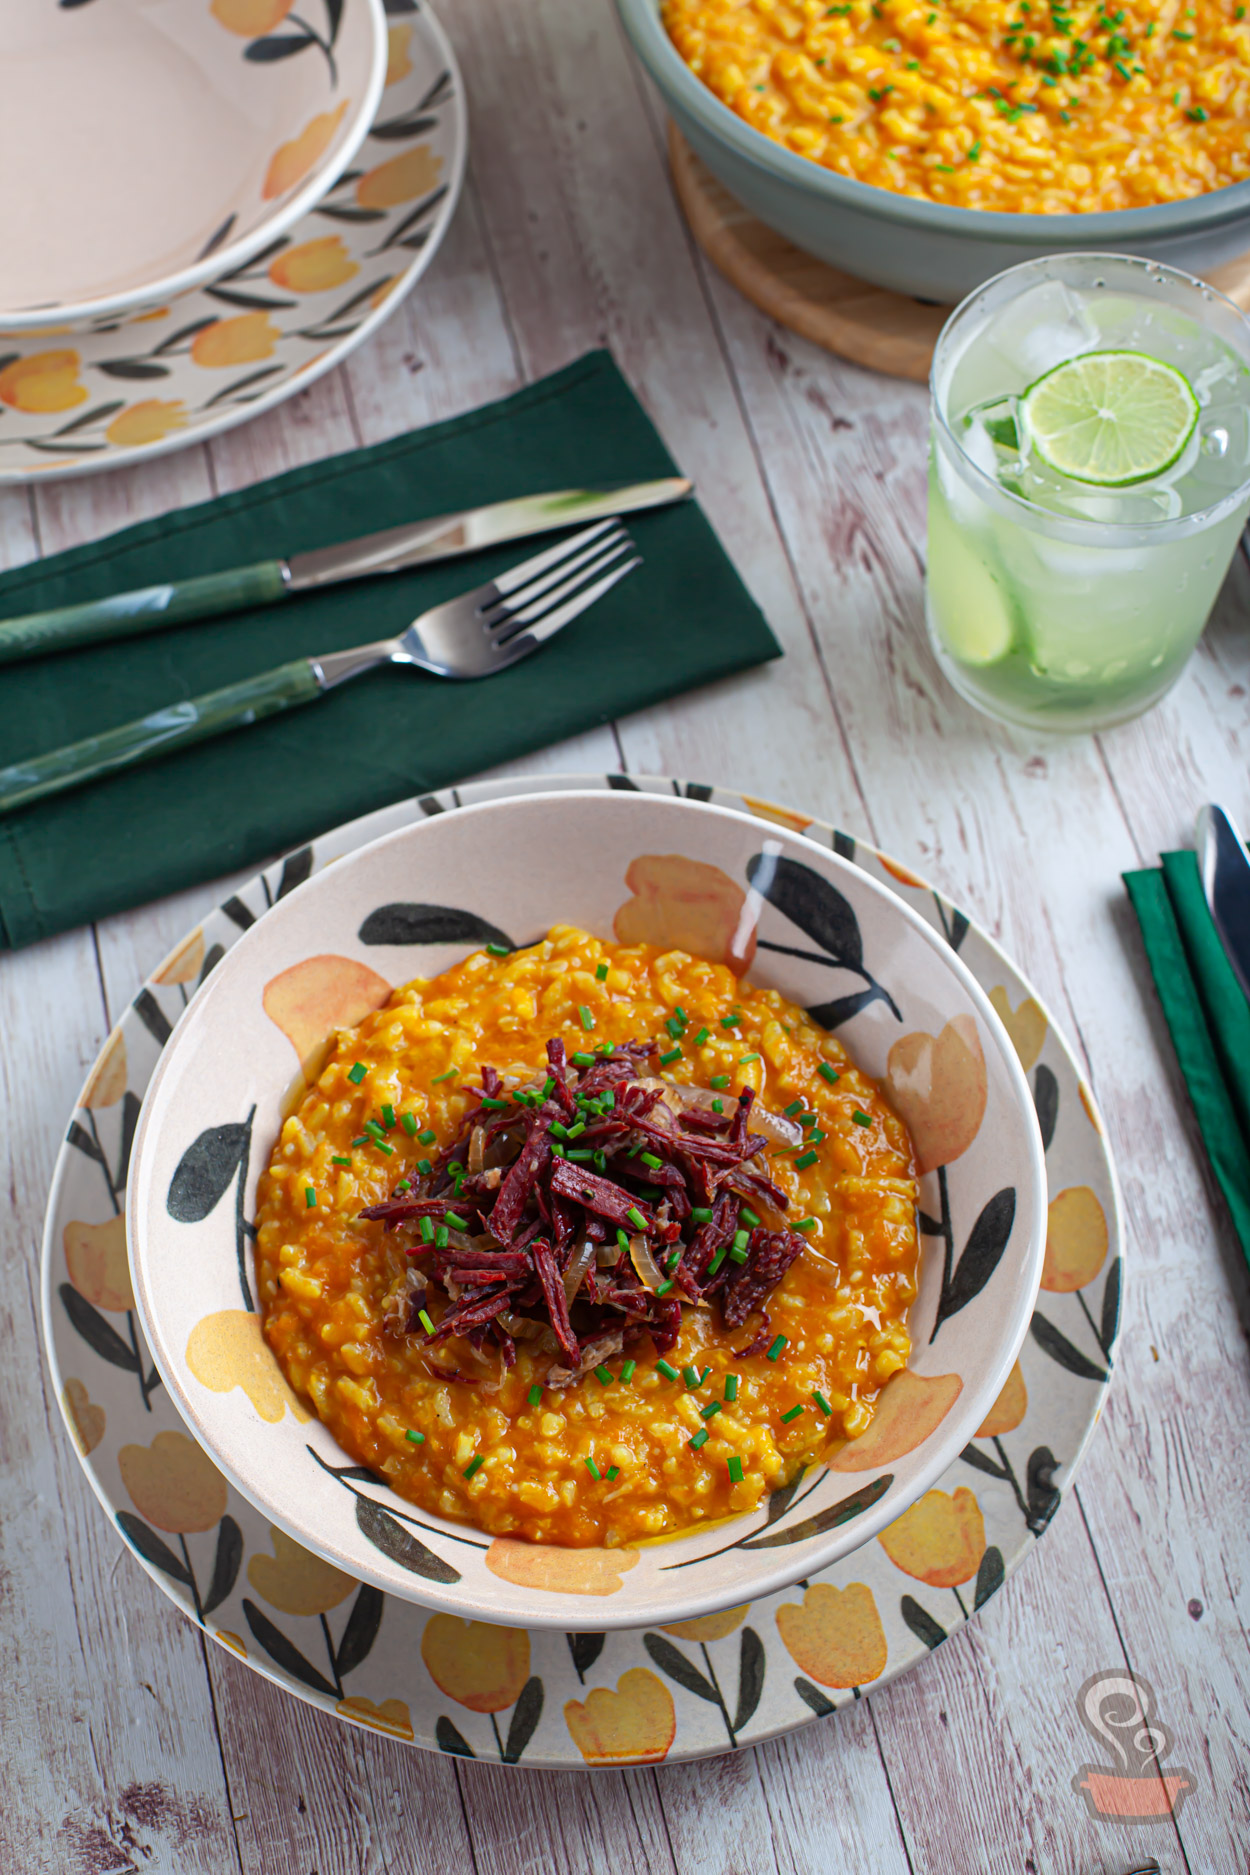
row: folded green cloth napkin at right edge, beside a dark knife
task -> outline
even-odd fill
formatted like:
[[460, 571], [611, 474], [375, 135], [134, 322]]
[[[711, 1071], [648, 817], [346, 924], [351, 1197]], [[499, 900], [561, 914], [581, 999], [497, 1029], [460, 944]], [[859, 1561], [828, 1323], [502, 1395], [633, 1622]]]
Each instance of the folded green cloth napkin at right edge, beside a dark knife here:
[[1224, 954], [1194, 853], [1126, 872], [1154, 988], [1211, 1168], [1250, 1260], [1250, 1005]]

